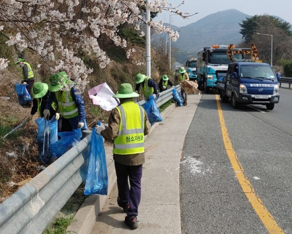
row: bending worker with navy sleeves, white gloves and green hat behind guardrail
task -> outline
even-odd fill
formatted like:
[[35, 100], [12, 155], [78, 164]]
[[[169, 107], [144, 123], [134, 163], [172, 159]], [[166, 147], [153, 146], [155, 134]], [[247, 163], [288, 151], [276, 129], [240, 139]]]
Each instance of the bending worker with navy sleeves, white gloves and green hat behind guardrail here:
[[[62, 90], [65, 85], [72, 87]], [[50, 106], [56, 103], [56, 119], [61, 118], [58, 131], [72, 131], [73, 129], [87, 129], [85, 122], [85, 107], [81, 94], [76, 90], [75, 83], [68, 78], [66, 72], [58, 72], [50, 77], [50, 94], [47, 99], [44, 117], [51, 115]]]

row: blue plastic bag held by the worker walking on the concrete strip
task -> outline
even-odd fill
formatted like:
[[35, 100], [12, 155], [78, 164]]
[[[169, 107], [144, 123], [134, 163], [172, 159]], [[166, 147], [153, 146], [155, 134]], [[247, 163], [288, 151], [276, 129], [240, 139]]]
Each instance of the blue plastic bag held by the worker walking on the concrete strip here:
[[84, 194], [108, 194], [108, 169], [103, 137], [93, 127]]

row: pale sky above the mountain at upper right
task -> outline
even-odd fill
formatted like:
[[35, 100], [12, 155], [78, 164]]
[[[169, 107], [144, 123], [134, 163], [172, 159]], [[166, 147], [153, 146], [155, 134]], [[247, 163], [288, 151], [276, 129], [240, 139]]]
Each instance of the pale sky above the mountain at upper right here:
[[[173, 3], [174, 6], [178, 6], [183, 0], [168, 0], [167, 2]], [[185, 0], [185, 3], [178, 9], [184, 13], [189, 13], [189, 15], [196, 12], [198, 12], [198, 14], [190, 16], [189, 19], [183, 19], [180, 16], [171, 16], [171, 24], [182, 27], [194, 23], [210, 14], [228, 9], [236, 9], [250, 16], [264, 14], [278, 16], [287, 22], [292, 23], [290, 5], [291, 0]], [[169, 12], [165, 11], [164, 13], [159, 14], [155, 20], [163, 20], [164, 23], [169, 23]]]

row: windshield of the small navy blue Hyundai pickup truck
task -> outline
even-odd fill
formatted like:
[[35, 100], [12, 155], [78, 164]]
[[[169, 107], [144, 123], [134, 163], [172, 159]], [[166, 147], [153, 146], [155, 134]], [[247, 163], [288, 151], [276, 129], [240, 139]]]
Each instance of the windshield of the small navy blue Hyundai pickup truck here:
[[274, 71], [270, 66], [265, 65], [241, 65], [240, 76], [246, 78], [275, 79]]

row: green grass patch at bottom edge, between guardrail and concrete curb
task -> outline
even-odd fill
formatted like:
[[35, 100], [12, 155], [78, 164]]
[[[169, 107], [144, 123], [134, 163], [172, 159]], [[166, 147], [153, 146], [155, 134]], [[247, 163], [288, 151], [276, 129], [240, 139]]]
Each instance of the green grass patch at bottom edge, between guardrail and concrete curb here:
[[50, 224], [43, 234], [67, 234], [67, 227], [74, 220], [74, 215], [58, 217]]

